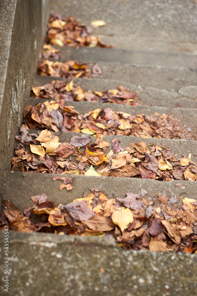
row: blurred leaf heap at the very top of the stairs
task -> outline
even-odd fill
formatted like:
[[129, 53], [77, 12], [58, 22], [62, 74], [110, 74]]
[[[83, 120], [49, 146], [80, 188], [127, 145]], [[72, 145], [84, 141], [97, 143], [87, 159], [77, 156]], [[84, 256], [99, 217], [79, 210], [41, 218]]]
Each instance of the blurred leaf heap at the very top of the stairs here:
[[50, 15], [47, 24], [46, 43], [68, 47], [105, 47], [113, 48], [101, 42], [100, 36], [92, 36], [88, 28], [80, 25], [74, 17]]

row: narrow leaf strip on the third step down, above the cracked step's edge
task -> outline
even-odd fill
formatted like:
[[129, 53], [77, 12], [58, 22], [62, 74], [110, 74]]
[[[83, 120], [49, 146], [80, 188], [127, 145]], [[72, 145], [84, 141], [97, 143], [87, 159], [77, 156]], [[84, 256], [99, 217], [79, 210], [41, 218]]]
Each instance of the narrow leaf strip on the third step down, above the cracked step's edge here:
[[123, 104], [128, 106], [138, 105], [140, 102], [139, 92], [132, 91], [124, 86], [117, 86], [117, 89], [108, 91], [84, 91], [81, 86], [73, 84], [73, 81], [66, 83], [66, 80], [53, 80], [43, 86], [32, 87], [31, 96], [38, 99], [51, 99], [65, 101], [87, 101]]

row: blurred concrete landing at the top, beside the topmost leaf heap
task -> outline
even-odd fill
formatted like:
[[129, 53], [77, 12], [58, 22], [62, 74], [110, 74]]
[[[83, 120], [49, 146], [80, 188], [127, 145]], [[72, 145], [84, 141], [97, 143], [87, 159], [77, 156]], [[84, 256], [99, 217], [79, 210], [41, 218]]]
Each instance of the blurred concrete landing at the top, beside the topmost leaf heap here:
[[92, 30], [97, 35], [131, 35], [132, 38], [135, 34], [140, 38], [197, 41], [196, 3], [193, 1], [51, 0], [50, 12], [66, 17], [72, 15], [89, 27], [94, 20], [104, 20], [108, 25]]

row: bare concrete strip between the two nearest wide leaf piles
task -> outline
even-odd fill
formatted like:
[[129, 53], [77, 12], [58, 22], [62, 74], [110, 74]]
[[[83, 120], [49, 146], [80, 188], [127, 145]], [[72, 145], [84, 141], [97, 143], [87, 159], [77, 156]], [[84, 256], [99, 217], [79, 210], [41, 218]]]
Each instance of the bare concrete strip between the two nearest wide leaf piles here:
[[[160, 182], [157, 180], [147, 180], [139, 178], [120, 178], [120, 177], [90, 177], [90, 176], [75, 176], [72, 181], [73, 189], [67, 191], [64, 188], [59, 190], [62, 183], [61, 180], [52, 181], [52, 177], [57, 175], [51, 174], [36, 174], [36, 173], [22, 173], [6, 171], [4, 174], [4, 184], [2, 188], [2, 197], [9, 200], [21, 211], [33, 203], [31, 196], [45, 193], [48, 201], [55, 201], [55, 205], [67, 204], [72, 202], [75, 198], [80, 198], [83, 195], [89, 194], [90, 189], [97, 187], [108, 198], [125, 197], [126, 192], [133, 192], [139, 194], [140, 189], [149, 191], [146, 194], [146, 199], [151, 199], [163, 190], [166, 191], [167, 197], [173, 196], [178, 202], [176, 205], [182, 205], [181, 198], [197, 199], [197, 182], [173, 180], [169, 182]], [[73, 177], [73, 176], [71, 176]], [[180, 186], [175, 186], [181, 184]], [[181, 187], [185, 187], [182, 189]], [[170, 190], [168, 192], [167, 190]], [[159, 206], [157, 198], [154, 200], [154, 206]], [[1, 207], [1, 212], [3, 208]]]

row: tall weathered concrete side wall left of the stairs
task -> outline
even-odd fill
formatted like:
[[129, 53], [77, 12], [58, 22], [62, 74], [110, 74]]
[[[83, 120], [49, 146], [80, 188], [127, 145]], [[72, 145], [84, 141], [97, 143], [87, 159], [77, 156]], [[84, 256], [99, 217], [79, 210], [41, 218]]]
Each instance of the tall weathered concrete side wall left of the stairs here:
[[1, 186], [4, 170], [11, 168], [14, 137], [22, 124], [23, 106], [36, 72], [48, 19], [48, 1], [0, 0], [0, 12]]

